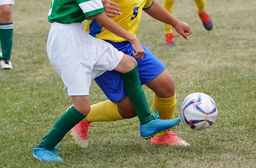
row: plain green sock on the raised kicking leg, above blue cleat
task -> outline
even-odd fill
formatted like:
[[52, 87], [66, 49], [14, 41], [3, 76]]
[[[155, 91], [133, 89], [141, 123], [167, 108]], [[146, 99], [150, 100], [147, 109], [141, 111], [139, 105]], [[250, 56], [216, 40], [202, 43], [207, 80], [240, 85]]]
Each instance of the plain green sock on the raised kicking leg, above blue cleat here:
[[149, 110], [145, 93], [140, 84], [138, 66], [127, 73], [122, 73], [122, 80], [125, 92], [136, 110], [140, 123], [145, 125], [154, 120]]

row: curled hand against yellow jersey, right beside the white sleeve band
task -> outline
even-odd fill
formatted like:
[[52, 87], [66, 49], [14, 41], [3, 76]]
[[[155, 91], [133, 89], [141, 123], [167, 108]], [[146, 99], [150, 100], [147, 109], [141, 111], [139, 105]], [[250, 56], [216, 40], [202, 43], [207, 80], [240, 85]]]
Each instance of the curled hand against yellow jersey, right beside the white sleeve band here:
[[102, 4], [108, 17], [116, 17], [116, 15], [121, 15], [117, 3], [114, 3], [111, 0], [102, 0]]

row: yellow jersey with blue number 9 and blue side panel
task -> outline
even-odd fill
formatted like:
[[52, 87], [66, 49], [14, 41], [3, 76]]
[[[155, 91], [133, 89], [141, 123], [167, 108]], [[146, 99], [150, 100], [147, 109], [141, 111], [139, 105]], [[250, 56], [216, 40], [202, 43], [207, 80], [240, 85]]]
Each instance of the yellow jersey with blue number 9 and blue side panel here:
[[[112, 0], [113, 2], [119, 5], [121, 15], [116, 15], [116, 17], [110, 17], [114, 22], [116, 22], [119, 26], [125, 29], [127, 32], [131, 33], [132, 35], [136, 36], [141, 13], [142, 10], [149, 9], [154, 0]], [[84, 29], [93, 37], [102, 39], [102, 40], [109, 40], [113, 42], [122, 42], [126, 41], [123, 38], [120, 38], [117, 35], [109, 32], [102, 26], [100, 26], [97, 21], [94, 20], [87, 20], [86, 28]]]

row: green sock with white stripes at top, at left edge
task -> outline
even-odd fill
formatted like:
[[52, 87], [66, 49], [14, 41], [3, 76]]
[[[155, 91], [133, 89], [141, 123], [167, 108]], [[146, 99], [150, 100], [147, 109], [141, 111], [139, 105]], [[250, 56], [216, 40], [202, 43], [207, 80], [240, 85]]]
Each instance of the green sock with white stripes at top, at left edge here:
[[2, 47], [3, 56], [1, 60], [10, 60], [12, 52], [12, 34], [13, 24], [12, 23], [0, 23], [0, 41]]

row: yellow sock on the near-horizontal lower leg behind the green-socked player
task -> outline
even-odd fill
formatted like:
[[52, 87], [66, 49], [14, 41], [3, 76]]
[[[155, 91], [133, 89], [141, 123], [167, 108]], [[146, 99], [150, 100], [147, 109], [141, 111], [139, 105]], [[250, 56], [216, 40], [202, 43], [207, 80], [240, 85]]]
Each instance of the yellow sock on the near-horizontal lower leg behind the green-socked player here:
[[86, 122], [112, 122], [123, 119], [118, 111], [117, 104], [106, 100], [91, 105], [90, 113], [83, 119]]

